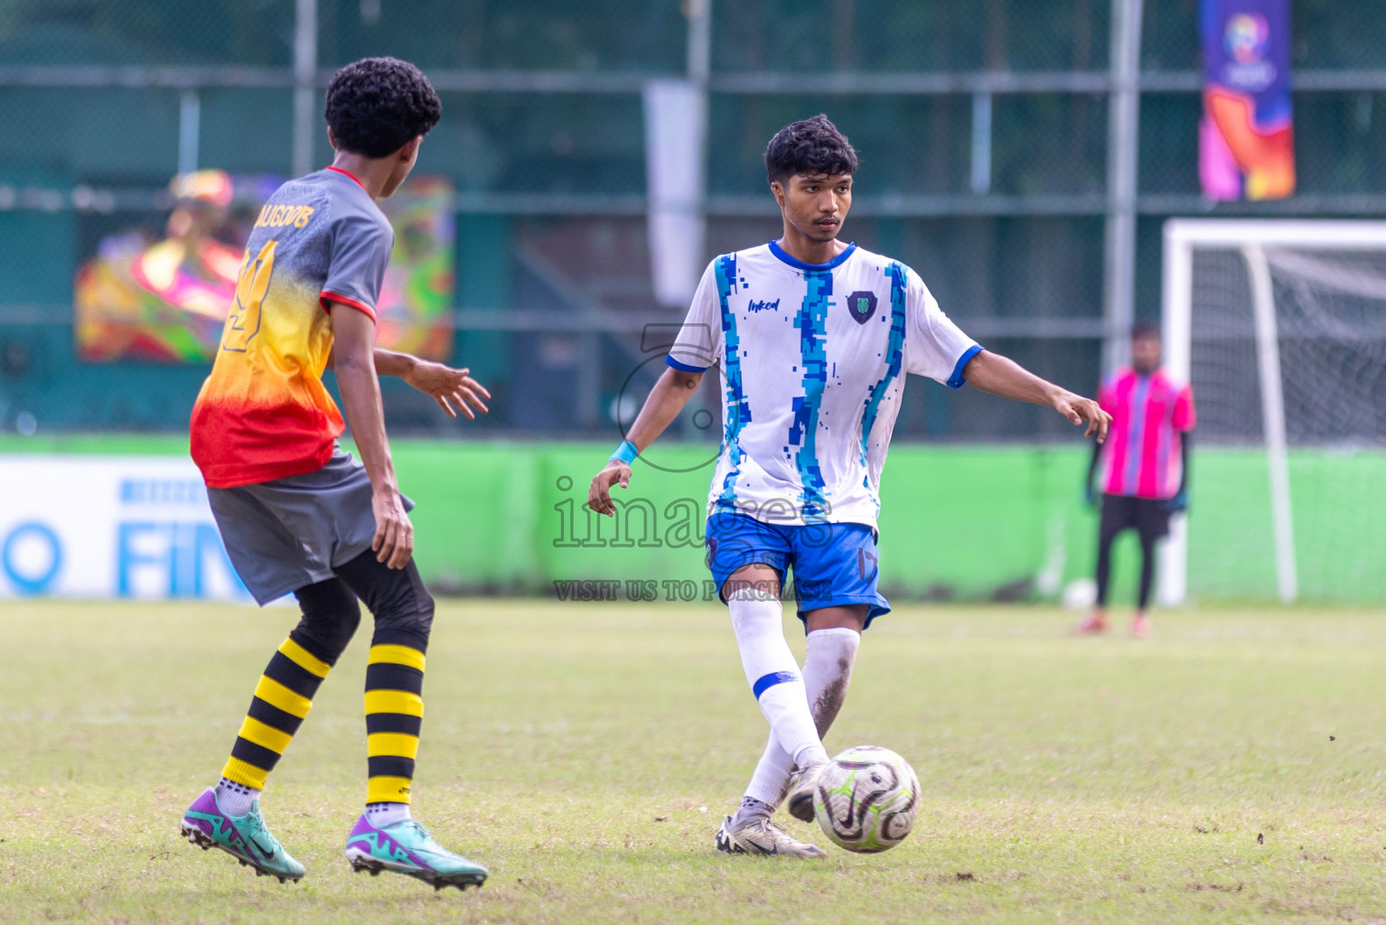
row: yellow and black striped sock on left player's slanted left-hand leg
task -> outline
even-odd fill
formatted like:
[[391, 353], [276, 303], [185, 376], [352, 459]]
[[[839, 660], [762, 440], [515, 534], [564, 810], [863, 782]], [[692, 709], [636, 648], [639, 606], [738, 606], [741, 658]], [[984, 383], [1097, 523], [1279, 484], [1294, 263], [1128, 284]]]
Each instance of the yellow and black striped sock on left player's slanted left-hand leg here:
[[309, 652], [290, 634], [255, 685], [255, 698], [241, 723], [222, 777], [256, 791], [265, 789], [265, 777], [274, 770], [312, 709], [313, 695], [328, 670], [328, 662]]

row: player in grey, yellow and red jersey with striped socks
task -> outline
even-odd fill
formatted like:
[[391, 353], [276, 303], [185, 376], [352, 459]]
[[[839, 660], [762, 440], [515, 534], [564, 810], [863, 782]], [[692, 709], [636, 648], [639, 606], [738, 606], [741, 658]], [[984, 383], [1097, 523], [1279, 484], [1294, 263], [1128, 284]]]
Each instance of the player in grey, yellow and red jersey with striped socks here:
[[[193, 460], [226, 551], [259, 604], [292, 593], [302, 619], [255, 687], [220, 782], [183, 814], [190, 842], [256, 874], [297, 881], [304, 865], [261, 814], [266, 775], [360, 622], [376, 618], [366, 667], [366, 811], [346, 838], [356, 870], [434, 886], [481, 885], [486, 868], [449, 852], [409, 810], [423, 721], [434, 602], [412, 561], [412, 503], [399, 492], [377, 374], [399, 375], [455, 415], [485, 411], [486, 390], [438, 363], [374, 346], [394, 231], [391, 195], [441, 114], [419, 68], [394, 58], [346, 65], [327, 89], [334, 163], [276, 191], [241, 264], [212, 374], [193, 406]], [[342, 453], [342, 415], [322, 382], [335, 368], [362, 464]], [[471, 407], [468, 407], [471, 406]]]

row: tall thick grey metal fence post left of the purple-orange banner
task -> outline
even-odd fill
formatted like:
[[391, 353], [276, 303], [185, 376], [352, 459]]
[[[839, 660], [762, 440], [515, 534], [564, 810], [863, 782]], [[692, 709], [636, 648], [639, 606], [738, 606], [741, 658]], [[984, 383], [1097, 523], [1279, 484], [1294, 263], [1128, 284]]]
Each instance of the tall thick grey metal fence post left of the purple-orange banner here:
[[1135, 318], [1135, 216], [1141, 137], [1142, 0], [1112, 0], [1112, 96], [1107, 98], [1107, 227], [1103, 266], [1103, 368], [1130, 357]]

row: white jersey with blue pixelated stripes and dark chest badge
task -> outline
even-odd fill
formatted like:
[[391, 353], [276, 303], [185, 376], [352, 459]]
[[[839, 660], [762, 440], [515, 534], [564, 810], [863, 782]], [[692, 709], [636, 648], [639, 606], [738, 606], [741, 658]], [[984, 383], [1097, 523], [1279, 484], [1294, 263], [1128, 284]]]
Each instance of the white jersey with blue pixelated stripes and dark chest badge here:
[[959, 388], [979, 350], [913, 270], [857, 245], [717, 258], [665, 360], [722, 375], [708, 515], [875, 528], [905, 372]]

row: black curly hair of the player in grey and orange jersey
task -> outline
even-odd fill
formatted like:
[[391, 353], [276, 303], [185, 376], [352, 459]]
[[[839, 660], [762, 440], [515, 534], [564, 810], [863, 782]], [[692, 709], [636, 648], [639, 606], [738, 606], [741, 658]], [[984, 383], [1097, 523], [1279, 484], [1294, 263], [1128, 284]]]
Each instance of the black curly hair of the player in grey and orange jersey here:
[[407, 61], [362, 58], [333, 75], [323, 115], [338, 148], [387, 158], [438, 125], [442, 102]]

